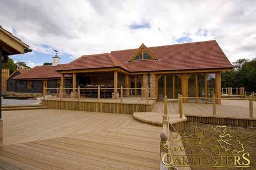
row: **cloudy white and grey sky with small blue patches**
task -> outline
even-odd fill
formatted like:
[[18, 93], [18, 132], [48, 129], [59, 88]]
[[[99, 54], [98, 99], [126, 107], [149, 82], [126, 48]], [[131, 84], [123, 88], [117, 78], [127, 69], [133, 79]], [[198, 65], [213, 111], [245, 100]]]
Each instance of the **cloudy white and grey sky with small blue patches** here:
[[1, 0], [0, 25], [30, 45], [30, 67], [86, 54], [217, 40], [231, 62], [256, 57], [256, 1]]

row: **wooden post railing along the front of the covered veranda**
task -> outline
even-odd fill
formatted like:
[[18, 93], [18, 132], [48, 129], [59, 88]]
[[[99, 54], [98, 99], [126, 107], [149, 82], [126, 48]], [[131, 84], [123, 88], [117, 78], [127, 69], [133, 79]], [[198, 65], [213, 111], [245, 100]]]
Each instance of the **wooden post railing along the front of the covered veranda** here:
[[[120, 102], [123, 103], [123, 98], [124, 98], [124, 91], [128, 91], [128, 90], [141, 90], [141, 99], [145, 99], [147, 101], [147, 103], [149, 103], [149, 94], [150, 94], [150, 91], [149, 91], [149, 87], [146, 86], [146, 88], [143, 88], [141, 86], [141, 88], [123, 88], [123, 86], [120, 86], [120, 88], [117, 88], [117, 89], [114, 89], [114, 88], [101, 88], [100, 86], [98, 86], [98, 88], [80, 88], [80, 86], [78, 86], [78, 88], [62, 88], [60, 86], [60, 88], [43, 88], [43, 98], [45, 99], [45, 96], [47, 94], [47, 91], [49, 90], [56, 90], [56, 95], [57, 97], [60, 98], [60, 100], [62, 100], [62, 98], [64, 97], [64, 93], [66, 90], [70, 90], [71, 93], [72, 92], [75, 92], [75, 94], [73, 94], [73, 97], [72, 98], [77, 98], [78, 100], [80, 100], [81, 98], [81, 90], [97, 90], [97, 99], [100, 100], [101, 99], [101, 90], [111, 90], [114, 92], [114, 90], [120, 90], [120, 96], [119, 96], [119, 99], [120, 99]], [[71, 94], [70, 93], [70, 94]], [[144, 96], [145, 95], [145, 96]]]

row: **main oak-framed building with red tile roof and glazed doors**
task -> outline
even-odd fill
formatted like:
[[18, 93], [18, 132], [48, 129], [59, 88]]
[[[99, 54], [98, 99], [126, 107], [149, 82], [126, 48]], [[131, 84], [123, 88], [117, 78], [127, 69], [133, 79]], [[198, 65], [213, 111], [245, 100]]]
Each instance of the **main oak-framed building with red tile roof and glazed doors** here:
[[[178, 94], [221, 97], [221, 72], [232, 68], [217, 42], [211, 40], [150, 48], [142, 44], [138, 49], [82, 56], [56, 71], [62, 75], [62, 87], [65, 75], [69, 75], [73, 76], [73, 88], [86, 84], [113, 85], [113, 98], [118, 98], [121, 85], [149, 86], [151, 98], [163, 100], [165, 95], [172, 99], [178, 98]], [[184, 102], [207, 101], [185, 99]]]

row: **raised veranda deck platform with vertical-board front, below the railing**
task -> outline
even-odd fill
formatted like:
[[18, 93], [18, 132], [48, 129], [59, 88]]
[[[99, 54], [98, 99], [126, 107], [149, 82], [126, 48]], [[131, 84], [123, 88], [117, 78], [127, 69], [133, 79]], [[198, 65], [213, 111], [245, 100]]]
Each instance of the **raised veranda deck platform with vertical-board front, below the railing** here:
[[42, 104], [50, 109], [65, 109], [73, 111], [86, 112], [104, 112], [104, 113], [123, 113], [132, 114], [133, 112], [150, 112], [155, 100], [141, 99], [140, 97], [120, 99], [95, 99], [95, 98], [52, 98], [42, 100]]

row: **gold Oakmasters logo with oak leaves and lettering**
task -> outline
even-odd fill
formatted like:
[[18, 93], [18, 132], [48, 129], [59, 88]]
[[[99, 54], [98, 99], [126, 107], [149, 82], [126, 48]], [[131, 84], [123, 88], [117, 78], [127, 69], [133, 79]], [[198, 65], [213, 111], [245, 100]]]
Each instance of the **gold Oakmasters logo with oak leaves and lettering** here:
[[[170, 137], [161, 158], [165, 167], [250, 167], [249, 153], [236, 136], [226, 133], [226, 126], [209, 130], [195, 127], [194, 134], [187, 132]], [[184, 147], [182, 147], [182, 143]]]

